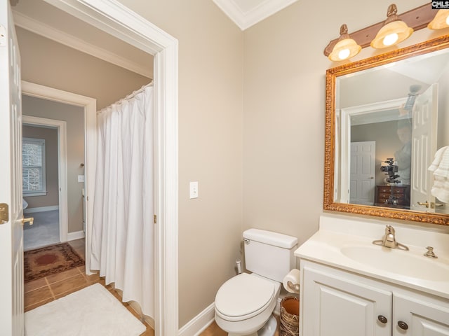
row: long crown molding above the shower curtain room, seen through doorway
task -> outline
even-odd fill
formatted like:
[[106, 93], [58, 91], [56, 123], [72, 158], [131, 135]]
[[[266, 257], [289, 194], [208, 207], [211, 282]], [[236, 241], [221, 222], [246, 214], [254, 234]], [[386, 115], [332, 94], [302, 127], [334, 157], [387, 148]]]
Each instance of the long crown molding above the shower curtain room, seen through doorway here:
[[116, 66], [120, 66], [123, 69], [133, 71], [134, 73], [138, 73], [141, 76], [153, 78], [153, 73], [150, 69], [147, 69], [136, 62], [132, 62], [129, 59], [121, 57], [114, 52], [110, 52], [109, 50], [83, 41], [71, 34], [67, 34], [64, 31], [55, 29], [55, 27], [51, 27], [38, 20], [29, 18], [29, 16], [19, 13], [16, 10], [13, 10], [13, 15], [14, 23], [17, 27], [26, 29], [34, 34], [49, 38], [63, 45], [67, 45], [70, 48], [74, 48], [93, 57], [102, 59], [106, 62], [115, 64]]

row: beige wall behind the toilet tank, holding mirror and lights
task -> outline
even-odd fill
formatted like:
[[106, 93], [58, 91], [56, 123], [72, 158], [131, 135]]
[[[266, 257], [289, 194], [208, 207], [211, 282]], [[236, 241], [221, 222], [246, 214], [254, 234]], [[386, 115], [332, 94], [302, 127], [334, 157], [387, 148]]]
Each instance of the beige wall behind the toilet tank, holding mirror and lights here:
[[[338, 37], [340, 25], [351, 32], [380, 22], [390, 3], [297, 1], [244, 32], [243, 229], [277, 230], [298, 237], [300, 244], [318, 230], [325, 75], [341, 64], [330, 62], [323, 50]], [[427, 1], [395, 3], [403, 13]], [[417, 31], [401, 47], [439, 34]], [[382, 52], [364, 48], [352, 60]]]

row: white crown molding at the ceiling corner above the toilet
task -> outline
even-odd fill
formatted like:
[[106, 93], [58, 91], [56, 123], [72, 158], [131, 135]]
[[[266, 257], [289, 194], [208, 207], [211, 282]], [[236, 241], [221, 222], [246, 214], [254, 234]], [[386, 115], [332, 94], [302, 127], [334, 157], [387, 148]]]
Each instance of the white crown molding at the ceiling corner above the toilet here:
[[290, 6], [297, 0], [265, 0], [255, 8], [243, 13], [241, 8], [233, 1], [229, 0], [213, 0], [215, 4], [239, 26], [241, 30], [248, 29], [270, 15], [279, 12], [283, 8]]

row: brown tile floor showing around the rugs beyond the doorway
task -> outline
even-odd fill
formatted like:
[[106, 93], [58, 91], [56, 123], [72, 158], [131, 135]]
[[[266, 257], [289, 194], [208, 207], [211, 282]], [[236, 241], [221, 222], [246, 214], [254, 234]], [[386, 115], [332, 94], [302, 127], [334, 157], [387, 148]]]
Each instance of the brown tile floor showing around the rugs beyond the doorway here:
[[[72, 245], [76, 253], [84, 258], [84, 239], [69, 241], [69, 244]], [[84, 267], [82, 266], [25, 283], [25, 311], [29, 311], [60, 297], [76, 292], [76, 290], [91, 286], [93, 283], [101, 283], [110, 293], [112, 293], [112, 295], [120, 300], [119, 294], [116, 293], [112, 285], [106, 286], [105, 279], [100, 278], [98, 274], [86, 275]], [[128, 303], [122, 302], [122, 304], [134, 316], [140, 318]], [[147, 326], [147, 331], [141, 336], [154, 336], [154, 330], [152, 330], [147, 323], [145, 323], [145, 325]]]

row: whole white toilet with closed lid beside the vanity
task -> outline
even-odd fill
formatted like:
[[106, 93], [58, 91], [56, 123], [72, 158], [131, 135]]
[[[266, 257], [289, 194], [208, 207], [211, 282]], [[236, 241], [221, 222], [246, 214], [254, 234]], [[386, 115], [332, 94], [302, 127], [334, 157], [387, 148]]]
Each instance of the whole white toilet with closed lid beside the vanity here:
[[222, 284], [215, 296], [215, 321], [229, 335], [258, 335], [272, 316], [281, 283], [295, 268], [297, 238], [249, 229], [243, 232], [246, 269]]

